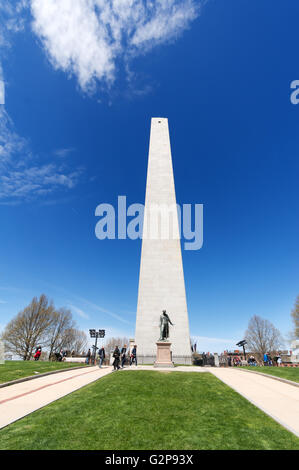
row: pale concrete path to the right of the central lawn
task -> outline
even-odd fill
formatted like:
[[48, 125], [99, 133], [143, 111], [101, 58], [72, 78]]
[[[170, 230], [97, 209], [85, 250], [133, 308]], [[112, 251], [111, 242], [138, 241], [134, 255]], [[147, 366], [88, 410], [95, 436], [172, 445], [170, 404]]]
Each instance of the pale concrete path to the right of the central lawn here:
[[237, 368], [213, 367], [209, 372], [299, 437], [297, 387]]

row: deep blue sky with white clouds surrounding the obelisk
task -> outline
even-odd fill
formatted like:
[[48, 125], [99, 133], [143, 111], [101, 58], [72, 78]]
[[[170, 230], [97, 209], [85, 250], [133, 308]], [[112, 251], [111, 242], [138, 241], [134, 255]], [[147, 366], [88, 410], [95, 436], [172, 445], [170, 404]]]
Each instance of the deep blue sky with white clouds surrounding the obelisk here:
[[0, 325], [44, 292], [82, 329], [134, 334], [141, 242], [98, 240], [95, 208], [144, 202], [162, 116], [177, 201], [204, 205], [204, 245], [183, 251], [198, 348], [233, 347], [252, 315], [286, 335], [299, 294], [298, 2], [2, 3]]

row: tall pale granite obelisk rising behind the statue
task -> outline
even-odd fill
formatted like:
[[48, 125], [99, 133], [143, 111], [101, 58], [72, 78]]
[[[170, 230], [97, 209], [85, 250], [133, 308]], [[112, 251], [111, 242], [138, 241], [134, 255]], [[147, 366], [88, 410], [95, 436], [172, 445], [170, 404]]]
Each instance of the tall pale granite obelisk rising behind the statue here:
[[166, 310], [174, 324], [170, 326], [169, 335], [173, 362], [190, 364], [190, 333], [168, 120], [152, 118], [135, 332], [141, 364], [156, 360], [162, 310]]

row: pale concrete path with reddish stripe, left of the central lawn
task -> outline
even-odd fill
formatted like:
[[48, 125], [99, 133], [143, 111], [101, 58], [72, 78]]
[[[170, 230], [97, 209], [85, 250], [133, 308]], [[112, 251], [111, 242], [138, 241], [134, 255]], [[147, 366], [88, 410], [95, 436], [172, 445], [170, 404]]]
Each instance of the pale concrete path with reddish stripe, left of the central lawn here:
[[0, 389], [0, 428], [112, 372], [88, 367], [36, 378]]

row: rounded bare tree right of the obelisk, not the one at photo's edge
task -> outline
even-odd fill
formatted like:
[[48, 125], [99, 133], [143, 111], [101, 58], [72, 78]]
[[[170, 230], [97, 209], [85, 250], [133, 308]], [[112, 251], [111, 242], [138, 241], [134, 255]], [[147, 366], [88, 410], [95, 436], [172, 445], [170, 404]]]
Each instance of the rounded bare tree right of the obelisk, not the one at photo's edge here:
[[245, 332], [248, 348], [261, 360], [265, 353], [275, 353], [283, 345], [282, 336], [269, 321], [254, 315]]

